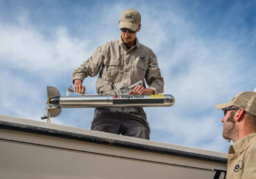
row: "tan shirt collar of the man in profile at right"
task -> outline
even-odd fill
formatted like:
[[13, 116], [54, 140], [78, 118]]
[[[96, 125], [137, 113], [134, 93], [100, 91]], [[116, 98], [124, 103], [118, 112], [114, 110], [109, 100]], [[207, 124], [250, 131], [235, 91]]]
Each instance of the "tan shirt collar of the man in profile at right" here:
[[252, 138], [256, 138], [256, 132], [249, 134], [248, 136], [245, 136], [244, 138], [241, 138], [237, 142], [230, 145], [228, 153], [233, 153], [233, 154], [241, 153], [242, 151], [244, 151], [244, 148], [246, 147], [246, 145], [250, 143]]

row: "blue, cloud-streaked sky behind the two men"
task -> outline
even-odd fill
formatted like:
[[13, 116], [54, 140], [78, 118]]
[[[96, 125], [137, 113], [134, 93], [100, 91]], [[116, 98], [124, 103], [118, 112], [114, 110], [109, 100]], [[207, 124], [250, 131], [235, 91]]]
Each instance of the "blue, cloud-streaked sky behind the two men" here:
[[[172, 107], [145, 108], [151, 140], [227, 152], [214, 105], [256, 87], [255, 1], [0, 0], [0, 114], [40, 120], [46, 86], [66, 95], [95, 48], [118, 39], [122, 11], [142, 17], [140, 43], [158, 56]], [[96, 78], [86, 78], [95, 94]], [[63, 109], [52, 123], [90, 129], [93, 109]]]

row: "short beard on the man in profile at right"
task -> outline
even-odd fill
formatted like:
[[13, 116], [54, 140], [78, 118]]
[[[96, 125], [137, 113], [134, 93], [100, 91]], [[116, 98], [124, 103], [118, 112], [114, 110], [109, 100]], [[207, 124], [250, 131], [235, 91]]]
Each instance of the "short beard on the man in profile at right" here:
[[230, 116], [227, 118], [226, 122], [223, 124], [222, 136], [226, 140], [232, 140], [237, 134], [237, 128], [235, 126], [234, 120], [235, 112], [231, 112]]

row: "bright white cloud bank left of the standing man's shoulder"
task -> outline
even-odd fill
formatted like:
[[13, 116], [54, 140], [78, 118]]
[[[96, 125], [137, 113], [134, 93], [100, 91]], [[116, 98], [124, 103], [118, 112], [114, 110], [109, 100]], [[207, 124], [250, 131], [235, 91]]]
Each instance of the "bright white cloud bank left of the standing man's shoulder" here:
[[89, 41], [71, 38], [64, 27], [55, 30], [53, 39], [30, 23], [0, 23], [0, 32], [1, 61], [28, 72], [71, 70], [89, 55]]

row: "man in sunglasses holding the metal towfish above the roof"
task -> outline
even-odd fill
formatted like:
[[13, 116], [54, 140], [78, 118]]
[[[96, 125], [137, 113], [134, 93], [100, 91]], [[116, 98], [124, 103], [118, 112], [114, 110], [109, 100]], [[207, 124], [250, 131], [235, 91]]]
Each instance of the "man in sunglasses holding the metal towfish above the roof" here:
[[[98, 47], [92, 56], [73, 72], [74, 92], [84, 94], [84, 78], [99, 73], [96, 81], [98, 94], [111, 92], [109, 95], [115, 95], [113, 89], [129, 87], [138, 81], [143, 81], [143, 85], [137, 85], [129, 94], [163, 93], [163, 77], [156, 55], [136, 38], [140, 28], [140, 13], [137, 10], [128, 9], [122, 12], [119, 21], [120, 39]], [[149, 139], [150, 131], [143, 107], [95, 108], [91, 129], [145, 139]]]

